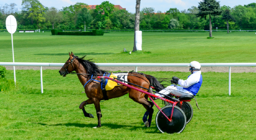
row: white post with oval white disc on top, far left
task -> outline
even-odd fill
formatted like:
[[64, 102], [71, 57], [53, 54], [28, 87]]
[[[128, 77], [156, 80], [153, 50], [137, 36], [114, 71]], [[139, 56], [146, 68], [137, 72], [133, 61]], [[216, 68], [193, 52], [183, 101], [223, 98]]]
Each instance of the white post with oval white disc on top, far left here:
[[[17, 21], [13, 15], [9, 15], [6, 18], [6, 29], [11, 34], [16, 32], [17, 29]], [[14, 62], [14, 51], [13, 51], [13, 37], [12, 37], [12, 58]], [[16, 75], [15, 75], [15, 66], [13, 66], [13, 72], [14, 72], [14, 83], [16, 85]]]

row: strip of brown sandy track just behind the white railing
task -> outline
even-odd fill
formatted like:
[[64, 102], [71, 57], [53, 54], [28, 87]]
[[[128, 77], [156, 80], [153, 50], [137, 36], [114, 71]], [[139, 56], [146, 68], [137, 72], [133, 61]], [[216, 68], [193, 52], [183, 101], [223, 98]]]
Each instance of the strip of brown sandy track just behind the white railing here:
[[[5, 66], [7, 70], [13, 70], [13, 66]], [[61, 67], [42, 67], [43, 70], [60, 70]], [[40, 67], [35, 66], [15, 66], [16, 70], [40, 70]], [[100, 67], [102, 70], [108, 71], [135, 71], [135, 67]], [[180, 71], [188, 72], [188, 67], [138, 67], [138, 71]], [[202, 67], [202, 72], [228, 72], [228, 67]], [[256, 67], [231, 67], [232, 73], [241, 72], [256, 72]]]

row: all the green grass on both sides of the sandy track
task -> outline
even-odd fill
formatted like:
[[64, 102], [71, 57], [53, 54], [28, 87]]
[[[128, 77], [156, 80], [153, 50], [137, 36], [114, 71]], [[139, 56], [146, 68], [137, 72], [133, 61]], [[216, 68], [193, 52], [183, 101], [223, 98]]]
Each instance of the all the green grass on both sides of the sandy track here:
[[[87, 55], [97, 63], [201, 63], [255, 62], [254, 33], [143, 33], [143, 52], [131, 55], [133, 33], [105, 33], [104, 36], [52, 36], [50, 33], [15, 33], [16, 62], [65, 62], [68, 51]], [[0, 61], [12, 62], [9, 33], [0, 33]], [[155, 77], [186, 79], [187, 72], [144, 72]], [[142, 105], [125, 95], [102, 102], [102, 127], [97, 118], [85, 118], [80, 103], [87, 99], [76, 75], [61, 77], [58, 70], [43, 70], [44, 93], [39, 70], [16, 70], [0, 80], [0, 139], [255, 139], [256, 73], [232, 73], [228, 96], [228, 73], [202, 73], [203, 84], [191, 105], [194, 116], [180, 134], [162, 134], [155, 120], [143, 128]], [[160, 107], [161, 100], [156, 100]], [[94, 105], [86, 107], [96, 116]], [[154, 116], [157, 108], [154, 107]]]

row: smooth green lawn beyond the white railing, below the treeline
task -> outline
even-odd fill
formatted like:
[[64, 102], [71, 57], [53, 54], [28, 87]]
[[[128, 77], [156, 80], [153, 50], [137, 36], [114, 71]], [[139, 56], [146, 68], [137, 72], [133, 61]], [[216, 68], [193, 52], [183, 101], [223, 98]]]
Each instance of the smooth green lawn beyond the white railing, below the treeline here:
[[[104, 36], [61, 36], [51, 33], [14, 33], [15, 62], [56, 62], [68, 59], [68, 52], [87, 55], [97, 63], [225, 63], [255, 62], [256, 35], [252, 32], [143, 33], [143, 52], [133, 50], [134, 33], [106, 33]], [[0, 33], [0, 59], [12, 62], [11, 35]]]

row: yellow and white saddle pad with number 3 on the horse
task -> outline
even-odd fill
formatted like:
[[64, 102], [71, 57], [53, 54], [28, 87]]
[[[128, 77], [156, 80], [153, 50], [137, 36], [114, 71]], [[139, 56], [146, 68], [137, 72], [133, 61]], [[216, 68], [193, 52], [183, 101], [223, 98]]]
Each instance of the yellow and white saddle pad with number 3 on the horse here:
[[[115, 77], [115, 78], [127, 81], [127, 75], [128, 75], [128, 72], [127, 73], [112, 73], [109, 77], [113, 78], [113, 79]], [[126, 82], [123, 82], [123, 83], [127, 84]], [[122, 86], [122, 84], [119, 84], [112, 80], [108, 80], [108, 83], [107, 83], [105, 89], [112, 90], [115, 86]]]

